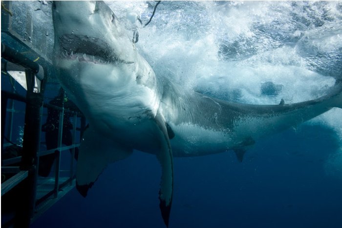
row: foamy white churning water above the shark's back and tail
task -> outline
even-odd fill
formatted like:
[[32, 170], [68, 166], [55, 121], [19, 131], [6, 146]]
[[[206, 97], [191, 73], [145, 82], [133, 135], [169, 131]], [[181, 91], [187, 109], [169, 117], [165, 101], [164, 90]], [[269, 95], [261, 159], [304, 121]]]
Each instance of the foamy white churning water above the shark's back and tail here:
[[[324, 95], [342, 78], [342, 3], [293, 1], [110, 2], [139, 32], [137, 47], [157, 76], [221, 99], [252, 104], [306, 101]], [[276, 94], [264, 94], [272, 82]], [[306, 124], [336, 132], [342, 146], [342, 110]], [[326, 172], [342, 177], [342, 155], [326, 160]]]

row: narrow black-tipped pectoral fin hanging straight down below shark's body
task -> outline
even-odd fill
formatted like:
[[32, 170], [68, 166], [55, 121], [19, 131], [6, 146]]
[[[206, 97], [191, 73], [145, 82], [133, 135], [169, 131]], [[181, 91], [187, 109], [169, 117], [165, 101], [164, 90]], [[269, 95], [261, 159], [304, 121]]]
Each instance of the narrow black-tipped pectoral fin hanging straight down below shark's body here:
[[164, 223], [169, 227], [173, 194], [173, 157], [169, 138], [170, 133], [168, 134], [167, 125], [160, 114], [156, 115], [155, 120], [159, 130], [157, 138], [160, 143], [160, 151], [157, 153], [157, 159], [162, 166], [162, 178], [159, 189], [159, 207]]

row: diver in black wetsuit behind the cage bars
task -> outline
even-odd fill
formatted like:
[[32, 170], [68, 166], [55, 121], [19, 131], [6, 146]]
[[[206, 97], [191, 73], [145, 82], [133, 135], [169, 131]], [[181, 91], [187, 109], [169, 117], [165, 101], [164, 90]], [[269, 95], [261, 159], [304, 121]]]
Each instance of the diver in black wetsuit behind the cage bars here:
[[[61, 88], [59, 94], [49, 102], [50, 105], [54, 105], [57, 107], [63, 107], [71, 110], [80, 112], [76, 105], [67, 99], [64, 95], [64, 90]], [[59, 114], [60, 111], [54, 109], [52, 107], [47, 108], [47, 118], [46, 123], [42, 126], [43, 132], [45, 132], [45, 141], [47, 150], [57, 148], [58, 146], [58, 127], [59, 127]], [[64, 145], [72, 144], [72, 134], [71, 130], [73, 129], [72, 123], [70, 121], [70, 117], [73, 114], [70, 112], [64, 112], [63, 116], [63, 133], [62, 133], [62, 143]], [[72, 149], [70, 149], [70, 152]], [[75, 148], [75, 159], [78, 158], [78, 148]], [[42, 177], [47, 177], [51, 171], [51, 167], [55, 160], [55, 154], [44, 155], [39, 158], [39, 169], [38, 174]]]

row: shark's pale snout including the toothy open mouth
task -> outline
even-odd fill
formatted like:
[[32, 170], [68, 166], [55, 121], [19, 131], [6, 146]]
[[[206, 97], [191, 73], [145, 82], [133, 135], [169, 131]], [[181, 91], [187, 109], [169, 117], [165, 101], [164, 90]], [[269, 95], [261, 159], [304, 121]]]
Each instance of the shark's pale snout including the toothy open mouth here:
[[56, 58], [95, 64], [134, 63], [130, 45], [106, 3], [54, 1], [52, 12]]

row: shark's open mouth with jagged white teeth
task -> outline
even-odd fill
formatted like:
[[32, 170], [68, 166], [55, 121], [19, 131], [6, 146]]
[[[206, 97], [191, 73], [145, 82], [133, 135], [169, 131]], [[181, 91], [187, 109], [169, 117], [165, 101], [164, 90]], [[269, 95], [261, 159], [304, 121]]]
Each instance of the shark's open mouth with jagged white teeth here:
[[72, 34], [63, 35], [60, 37], [60, 46], [61, 58], [78, 59], [80, 62], [95, 64], [134, 63], [117, 57], [107, 43], [99, 38]]

